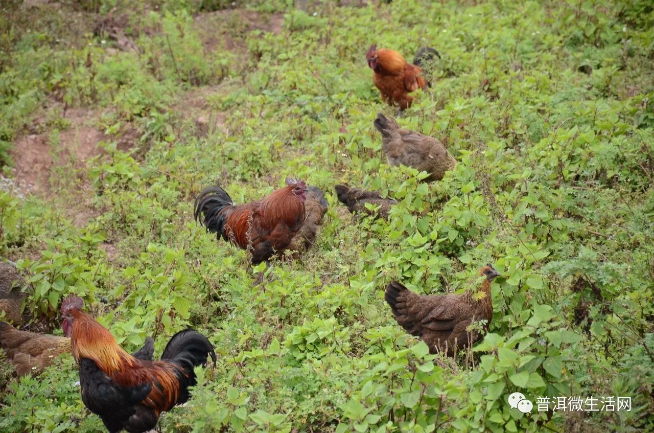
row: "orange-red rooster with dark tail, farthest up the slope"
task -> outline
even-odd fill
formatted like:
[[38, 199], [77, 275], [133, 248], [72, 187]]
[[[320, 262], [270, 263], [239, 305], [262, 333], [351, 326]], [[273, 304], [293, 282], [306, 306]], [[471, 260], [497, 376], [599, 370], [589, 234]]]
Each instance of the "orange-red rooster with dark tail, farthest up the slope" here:
[[377, 50], [377, 44], [372, 44], [366, 53], [366, 60], [373, 70], [373, 83], [384, 101], [388, 105], [399, 105], [404, 110], [411, 107], [413, 102], [413, 96], [409, 96], [409, 93], [428, 86], [421, 66], [433, 60], [434, 56], [440, 57], [434, 48], [422, 48], [411, 65], [399, 52], [388, 48]]

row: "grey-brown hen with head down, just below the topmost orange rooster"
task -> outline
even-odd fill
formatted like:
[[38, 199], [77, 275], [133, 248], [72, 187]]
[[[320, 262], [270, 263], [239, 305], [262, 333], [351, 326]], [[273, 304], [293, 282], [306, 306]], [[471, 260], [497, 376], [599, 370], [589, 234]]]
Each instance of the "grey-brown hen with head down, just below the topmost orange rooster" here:
[[426, 182], [440, 181], [445, 171], [456, 165], [456, 160], [443, 143], [419, 132], [402, 130], [392, 117], [377, 114], [373, 122], [381, 132], [381, 148], [386, 154], [388, 165], [406, 165], [419, 171], [426, 171]]

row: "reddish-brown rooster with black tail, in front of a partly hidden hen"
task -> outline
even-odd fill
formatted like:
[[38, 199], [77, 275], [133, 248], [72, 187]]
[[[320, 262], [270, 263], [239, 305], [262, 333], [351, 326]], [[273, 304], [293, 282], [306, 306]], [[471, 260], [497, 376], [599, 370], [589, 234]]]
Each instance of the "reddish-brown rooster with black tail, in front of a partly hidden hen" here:
[[289, 178], [286, 185], [261, 201], [241, 205], [220, 186], [209, 186], [196, 199], [195, 218], [218, 239], [252, 253], [252, 263], [259, 264], [283, 253], [304, 223], [307, 186]]

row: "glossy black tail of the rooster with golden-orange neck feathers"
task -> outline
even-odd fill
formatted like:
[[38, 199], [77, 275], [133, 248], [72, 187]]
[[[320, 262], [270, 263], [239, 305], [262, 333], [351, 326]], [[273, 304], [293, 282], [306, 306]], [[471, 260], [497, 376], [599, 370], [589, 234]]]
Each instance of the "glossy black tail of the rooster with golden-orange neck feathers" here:
[[186, 329], [178, 332], [168, 341], [163, 349], [162, 360], [177, 364], [182, 368], [183, 374], [178, 375], [179, 398], [177, 404], [188, 400], [188, 387], [196, 385], [196, 373], [193, 369], [197, 366], [206, 366], [207, 358], [211, 356], [213, 365], [216, 366], [216, 352], [213, 345], [205, 336], [196, 330]]

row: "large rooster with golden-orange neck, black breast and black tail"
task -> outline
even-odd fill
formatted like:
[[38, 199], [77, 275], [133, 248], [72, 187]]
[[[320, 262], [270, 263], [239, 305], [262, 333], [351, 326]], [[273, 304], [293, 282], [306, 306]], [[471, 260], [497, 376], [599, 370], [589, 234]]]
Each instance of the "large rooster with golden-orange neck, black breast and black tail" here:
[[188, 400], [188, 387], [196, 385], [194, 368], [206, 365], [209, 356], [216, 363], [209, 340], [192, 329], [170, 339], [162, 360], [139, 360], [118, 346], [111, 332], [82, 307], [81, 298], [65, 298], [62, 326], [79, 366], [82, 402], [110, 433], [150, 430], [163, 411]]

